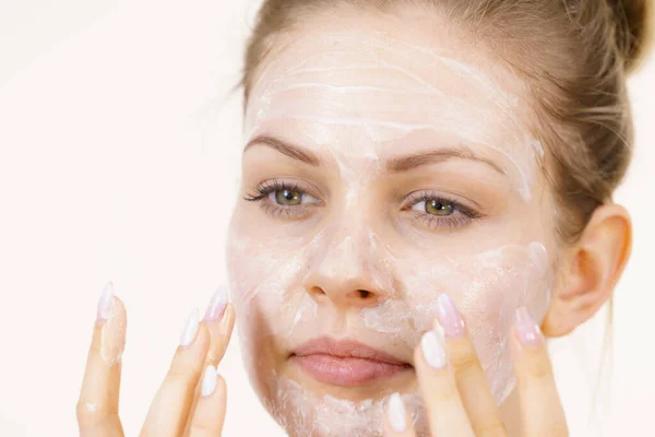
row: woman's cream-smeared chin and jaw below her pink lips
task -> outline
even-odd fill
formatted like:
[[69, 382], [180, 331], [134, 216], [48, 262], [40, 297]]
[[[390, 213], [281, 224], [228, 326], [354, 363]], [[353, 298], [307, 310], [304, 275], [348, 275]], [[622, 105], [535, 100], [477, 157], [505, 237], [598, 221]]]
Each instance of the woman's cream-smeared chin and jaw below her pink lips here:
[[412, 367], [361, 383], [348, 378], [331, 383], [295, 357], [277, 365], [264, 357], [252, 359], [259, 365], [249, 367], [249, 377], [262, 405], [290, 437], [382, 436], [386, 398], [395, 391], [405, 393], [417, 432], [427, 429]]

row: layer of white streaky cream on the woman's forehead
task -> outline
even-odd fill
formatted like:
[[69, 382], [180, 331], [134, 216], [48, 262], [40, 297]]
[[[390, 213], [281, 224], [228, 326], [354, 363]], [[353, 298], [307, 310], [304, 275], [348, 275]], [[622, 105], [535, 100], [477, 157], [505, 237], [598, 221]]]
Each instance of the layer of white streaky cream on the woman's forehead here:
[[279, 120], [302, 121], [308, 131], [340, 129], [343, 141], [327, 144], [335, 154], [377, 156], [383, 142], [431, 129], [500, 155], [528, 200], [543, 151], [522, 110], [515, 93], [451, 54], [380, 34], [327, 34], [307, 36], [266, 64], [246, 132], [250, 140]]

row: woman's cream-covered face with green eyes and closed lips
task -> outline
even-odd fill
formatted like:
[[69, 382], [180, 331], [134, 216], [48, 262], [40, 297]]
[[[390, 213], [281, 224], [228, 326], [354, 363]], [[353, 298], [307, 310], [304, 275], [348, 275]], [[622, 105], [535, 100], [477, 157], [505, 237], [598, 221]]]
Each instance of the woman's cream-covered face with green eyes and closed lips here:
[[291, 435], [378, 435], [395, 391], [420, 427], [413, 350], [441, 293], [502, 402], [513, 312], [541, 320], [552, 286], [526, 84], [434, 16], [349, 15], [281, 36], [247, 106], [230, 292]]

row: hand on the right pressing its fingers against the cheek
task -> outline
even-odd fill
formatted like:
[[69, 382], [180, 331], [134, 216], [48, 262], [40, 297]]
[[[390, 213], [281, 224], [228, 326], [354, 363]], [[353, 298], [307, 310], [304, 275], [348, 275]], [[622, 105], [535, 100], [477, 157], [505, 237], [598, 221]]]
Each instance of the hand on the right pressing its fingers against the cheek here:
[[[505, 426], [462, 316], [446, 295], [439, 297], [439, 319], [445, 340], [426, 333], [414, 354], [431, 436], [503, 437]], [[511, 332], [514, 373], [526, 437], [568, 436], [564, 412], [555, 386], [544, 336], [524, 308]], [[385, 436], [415, 436], [400, 395], [386, 405]]]

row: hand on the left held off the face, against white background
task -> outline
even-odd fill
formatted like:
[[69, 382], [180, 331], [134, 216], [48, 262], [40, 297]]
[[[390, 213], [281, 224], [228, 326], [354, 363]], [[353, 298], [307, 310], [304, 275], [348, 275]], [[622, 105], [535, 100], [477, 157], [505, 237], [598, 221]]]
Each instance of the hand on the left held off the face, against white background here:
[[[86, 359], [78, 401], [81, 436], [122, 436], [118, 416], [126, 309], [107, 284]], [[199, 322], [190, 316], [168, 374], [155, 394], [141, 436], [219, 436], [225, 418], [226, 386], [216, 373], [235, 322], [226, 295], [217, 292]], [[202, 376], [202, 378], [201, 378]]]

